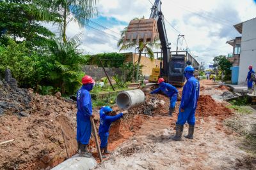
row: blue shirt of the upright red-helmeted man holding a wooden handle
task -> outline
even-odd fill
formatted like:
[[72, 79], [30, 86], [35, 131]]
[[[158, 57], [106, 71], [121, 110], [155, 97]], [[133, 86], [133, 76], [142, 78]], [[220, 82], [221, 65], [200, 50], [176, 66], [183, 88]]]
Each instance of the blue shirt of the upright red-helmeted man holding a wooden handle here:
[[90, 90], [92, 85], [83, 85], [77, 92], [77, 118], [90, 122], [92, 117], [92, 99]]

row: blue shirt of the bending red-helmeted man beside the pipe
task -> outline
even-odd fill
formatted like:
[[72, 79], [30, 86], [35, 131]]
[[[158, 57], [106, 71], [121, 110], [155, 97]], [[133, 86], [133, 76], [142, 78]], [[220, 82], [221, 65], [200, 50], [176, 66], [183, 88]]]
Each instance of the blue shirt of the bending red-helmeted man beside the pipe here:
[[174, 94], [178, 94], [179, 91], [173, 85], [169, 83], [159, 83], [159, 87], [156, 90], [153, 90], [150, 94], [156, 94], [162, 91], [166, 96], [172, 97]]

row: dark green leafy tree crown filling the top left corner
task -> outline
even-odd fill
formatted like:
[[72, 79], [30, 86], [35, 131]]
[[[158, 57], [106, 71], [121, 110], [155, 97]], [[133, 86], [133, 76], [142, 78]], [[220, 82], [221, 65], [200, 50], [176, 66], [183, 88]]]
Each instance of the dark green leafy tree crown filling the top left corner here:
[[[38, 15], [38, 6], [41, 5], [37, 0], [0, 1], [0, 38], [8, 34], [15, 41], [26, 40], [27, 46], [44, 45], [44, 41], [54, 34], [39, 23], [46, 21]], [[54, 13], [51, 15], [56, 16]]]

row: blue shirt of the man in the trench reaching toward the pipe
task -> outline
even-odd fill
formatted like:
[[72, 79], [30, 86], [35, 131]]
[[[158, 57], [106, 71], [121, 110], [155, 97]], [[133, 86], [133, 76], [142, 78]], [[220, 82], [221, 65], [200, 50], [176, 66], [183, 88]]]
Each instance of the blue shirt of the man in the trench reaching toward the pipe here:
[[112, 122], [120, 119], [123, 116], [123, 113], [119, 113], [115, 116], [109, 116], [102, 111], [103, 108], [100, 109], [100, 127], [99, 127], [99, 134], [104, 136], [109, 136], [109, 129]]

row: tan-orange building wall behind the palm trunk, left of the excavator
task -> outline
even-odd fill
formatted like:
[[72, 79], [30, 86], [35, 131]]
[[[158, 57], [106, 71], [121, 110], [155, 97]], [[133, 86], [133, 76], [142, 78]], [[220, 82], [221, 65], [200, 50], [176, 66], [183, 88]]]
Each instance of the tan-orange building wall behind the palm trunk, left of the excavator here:
[[[133, 59], [132, 59], [133, 57]], [[138, 61], [139, 59], [139, 55], [137, 54], [132, 54], [132, 55], [127, 55], [126, 59], [125, 59], [125, 62], [133, 62], [135, 61]], [[160, 66], [160, 60], [156, 60], [154, 59], [153, 61], [151, 61], [148, 57], [145, 57], [144, 55], [141, 56], [141, 60], [140, 60], [140, 64], [143, 65], [142, 67], [142, 74], [143, 75], [150, 75], [151, 72], [152, 72], [152, 69], [154, 67], [159, 67]]]

